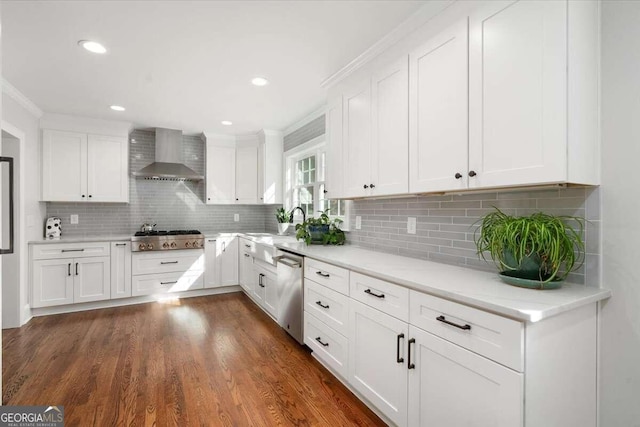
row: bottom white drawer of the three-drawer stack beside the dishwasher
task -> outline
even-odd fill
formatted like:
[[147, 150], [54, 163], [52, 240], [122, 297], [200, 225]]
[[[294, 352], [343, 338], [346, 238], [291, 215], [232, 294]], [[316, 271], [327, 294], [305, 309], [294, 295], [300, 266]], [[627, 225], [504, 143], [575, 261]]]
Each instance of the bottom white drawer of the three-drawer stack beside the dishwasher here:
[[304, 313], [304, 343], [320, 360], [347, 378], [348, 341], [309, 312]]

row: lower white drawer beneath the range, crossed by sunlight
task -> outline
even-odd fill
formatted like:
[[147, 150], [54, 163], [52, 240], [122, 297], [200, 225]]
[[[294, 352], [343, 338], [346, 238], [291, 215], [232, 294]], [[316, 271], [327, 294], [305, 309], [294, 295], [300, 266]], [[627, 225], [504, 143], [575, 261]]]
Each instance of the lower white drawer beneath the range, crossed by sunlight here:
[[204, 273], [161, 273], [133, 276], [131, 280], [131, 295], [161, 294], [182, 292], [204, 287]]

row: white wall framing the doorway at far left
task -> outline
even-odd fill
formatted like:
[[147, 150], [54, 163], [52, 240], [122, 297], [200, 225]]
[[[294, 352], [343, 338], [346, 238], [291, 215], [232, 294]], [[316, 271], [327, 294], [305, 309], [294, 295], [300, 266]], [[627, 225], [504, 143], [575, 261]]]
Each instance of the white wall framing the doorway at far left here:
[[26, 242], [40, 239], [44, 233], [44, 218], [46, 205], [40, 202], [40, 124], [39, 119], [18, 102], [2, 94], [2, 121], [11, 124], [24, 133], [24, 177], [25, 182], [21, 197], [24, 201], [24, 235], [22, 247], [25, 249], [20, 258], [21, 289], [20, 300], [22, 315], [21, 321], [28, 320], [30, 313], [25, 306], [29, 302], [28, 292], [28, 256]]

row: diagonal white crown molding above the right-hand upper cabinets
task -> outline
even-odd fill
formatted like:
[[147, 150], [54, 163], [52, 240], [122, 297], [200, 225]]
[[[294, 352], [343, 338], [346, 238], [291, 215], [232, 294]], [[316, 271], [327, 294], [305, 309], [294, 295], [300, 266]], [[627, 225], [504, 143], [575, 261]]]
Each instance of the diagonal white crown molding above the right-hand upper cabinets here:
[[408, 36], [410, 33], [430, 21], [434, 16], [455, 3], [455, 0], [434, 0], [427, 2], [413, 15], [405, 19], [400, 25], [394, 28], [389, 34], [375, 42], [371, 47], [356, 56], [347, 65], [324, 79], [320, 83], [321, 88], [330, 88], [340, 80], [354, 73], [360, 67], [380, 55], [385, 50]]

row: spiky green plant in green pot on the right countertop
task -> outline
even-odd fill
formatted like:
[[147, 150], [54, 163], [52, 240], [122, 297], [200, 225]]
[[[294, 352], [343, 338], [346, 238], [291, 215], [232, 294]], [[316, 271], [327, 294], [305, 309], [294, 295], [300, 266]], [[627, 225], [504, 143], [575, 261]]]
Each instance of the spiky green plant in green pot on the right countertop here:
[[485, 254], [491, 255], [500, 278], [511, 285], [558, 288], [584, 261], [584, 218], [542, 212], [515, 217], [495, 208], [479, 223], [474, 235], [478, 255], [485, 260]]

